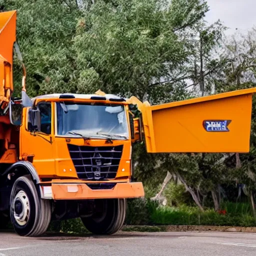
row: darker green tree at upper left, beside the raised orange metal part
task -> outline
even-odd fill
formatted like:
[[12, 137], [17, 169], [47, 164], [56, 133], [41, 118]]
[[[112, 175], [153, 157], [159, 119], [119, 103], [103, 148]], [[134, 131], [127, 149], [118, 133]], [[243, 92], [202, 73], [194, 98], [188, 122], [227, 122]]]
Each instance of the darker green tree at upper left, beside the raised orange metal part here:
[[[17, 41], [27, 69], [28, 94], [75, 91], [71, 39], [79, 9], [61, 0], [4, 0], [1, 6], [17, 10]], [[15, 63], [14, 85], [20, 88], [20, 68]]]

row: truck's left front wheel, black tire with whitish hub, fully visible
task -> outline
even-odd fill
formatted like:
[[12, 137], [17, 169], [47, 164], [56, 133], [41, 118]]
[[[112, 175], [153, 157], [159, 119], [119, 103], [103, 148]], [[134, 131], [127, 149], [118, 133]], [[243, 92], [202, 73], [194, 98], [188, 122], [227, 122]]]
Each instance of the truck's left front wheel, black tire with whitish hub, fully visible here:
[[29, 176], [17, 178], [10, 194], [10, 220], [17, 234], [39, 236], [49, 225], [49, 200], [40, 199]]

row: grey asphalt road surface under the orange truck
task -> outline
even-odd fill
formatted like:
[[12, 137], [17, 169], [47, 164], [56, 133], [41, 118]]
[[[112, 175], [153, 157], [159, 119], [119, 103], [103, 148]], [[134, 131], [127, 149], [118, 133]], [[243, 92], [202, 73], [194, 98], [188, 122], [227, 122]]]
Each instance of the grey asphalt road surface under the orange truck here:
[[256, 233], [119, 232], [112, 236], [20, 237], [0, 232], [0, 256], [256, 255]]

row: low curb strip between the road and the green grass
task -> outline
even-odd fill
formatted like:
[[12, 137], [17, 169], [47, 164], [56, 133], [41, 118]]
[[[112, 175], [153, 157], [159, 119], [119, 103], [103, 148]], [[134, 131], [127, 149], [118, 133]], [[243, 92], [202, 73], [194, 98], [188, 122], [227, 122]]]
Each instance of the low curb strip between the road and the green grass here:
[[124, 225], [121, 228], [126, 232], [177, 232], [177, 231], [219, 231], [219, 232], [243, 232], [256, 233], [256, 226], [211, 226], [211, 225]]

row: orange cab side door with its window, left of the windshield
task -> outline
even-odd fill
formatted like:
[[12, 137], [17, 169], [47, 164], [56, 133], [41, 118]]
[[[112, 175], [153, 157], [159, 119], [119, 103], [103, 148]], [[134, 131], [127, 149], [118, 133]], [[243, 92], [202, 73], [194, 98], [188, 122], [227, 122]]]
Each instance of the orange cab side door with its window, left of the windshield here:
[[52, 103], [39, 102], [40, 127], [32, 134], [28, 131], [28, 111], [24, 109], [22, 125], [20, 127], [20, 159], [29, 160], [37, 173], [47, 176], [54, 173], [55, 161], [53, 157], [53, 114]]

